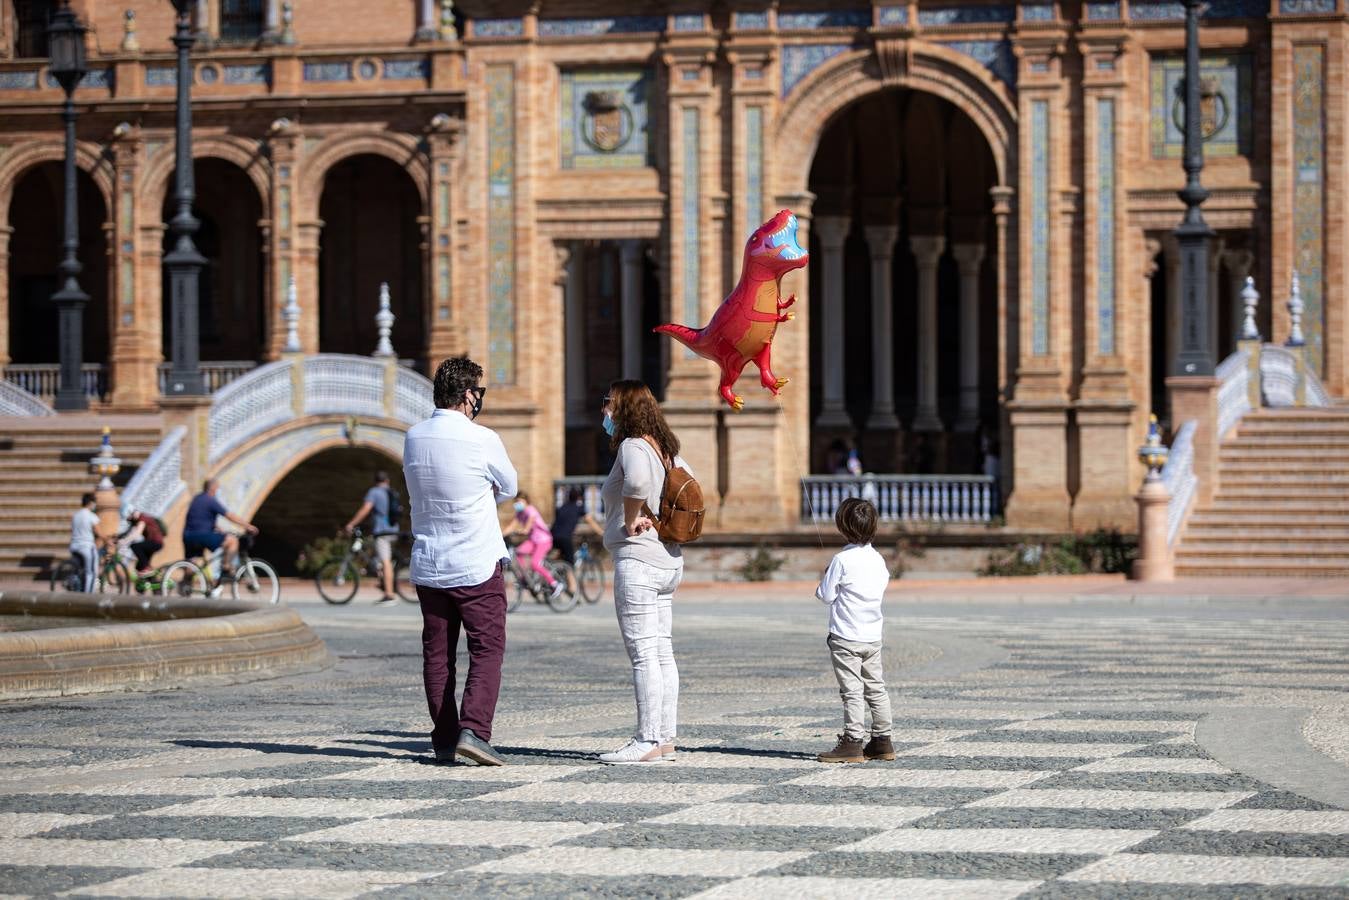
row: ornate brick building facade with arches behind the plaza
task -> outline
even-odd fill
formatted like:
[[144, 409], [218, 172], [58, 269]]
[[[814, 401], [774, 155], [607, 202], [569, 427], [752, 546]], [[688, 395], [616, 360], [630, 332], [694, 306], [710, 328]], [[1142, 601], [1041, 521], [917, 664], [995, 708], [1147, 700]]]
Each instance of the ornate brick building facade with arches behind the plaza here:
[[[130, 0], [128, 0], [130, 1]], [[1211, 343], [1240, 290], [1345, 393], [1345, 0], [1228, 0], [1202, 27]], [[109, 409], [156, 405], [174, 57], [167, 3], [73, 4], [85, 359]], [[0, 363], [55, 363], [61, 92], [0, 0]], [[1166, 418], [1178, 331], [1179, 3], [201, 0], [194, 155], [202, 359], [468, 352], [540, 494], [603, 464], [608, 381], [652, 382], [720, 525], [778, 530], [854, 443], [874, 471], [997, 456], [1009, 525], [1130, 528], [1133, 448]], [[780, 399], [650, 327], [704, 322], [778, 208], [811, 250]], [[1276, 302], [1271, 304], [1269, 298]], [[753, 367], [751, 367], [753, 371]], [[93, 382], [92, 382], [93, 383]]]

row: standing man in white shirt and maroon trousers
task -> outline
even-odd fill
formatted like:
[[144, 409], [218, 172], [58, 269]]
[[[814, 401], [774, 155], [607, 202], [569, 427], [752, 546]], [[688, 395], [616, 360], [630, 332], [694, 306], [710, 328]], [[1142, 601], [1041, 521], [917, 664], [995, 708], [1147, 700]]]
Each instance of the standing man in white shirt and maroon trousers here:
[[[496, 505], [515, 497], [515, 467], [496, 432], [475, 425], [487, 389], [467, 356], [436, 370], [436, 412], [407, 430], [403, 475], [413, 517], [411, 583], [422, 611], [422, 676], [438, 762], [505, 765], [490, 741], [506, 654], [507, 559]], [[455, 706], [463, 626], [468, 676]]]

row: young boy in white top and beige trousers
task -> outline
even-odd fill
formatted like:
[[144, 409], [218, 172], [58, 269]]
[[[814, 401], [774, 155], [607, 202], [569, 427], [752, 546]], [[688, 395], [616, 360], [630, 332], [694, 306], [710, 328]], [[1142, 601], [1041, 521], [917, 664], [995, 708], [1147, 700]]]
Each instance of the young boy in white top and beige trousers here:
[[[830, 607], [830, 654], [843, 698], [843, 734], [820, 762], [893, 760], [890, 695], [881, 673], [881, 598], [890, 572], [871, 546], [876, 507], [857, 497], [839, 503], [834, 524], [847, 546], [830, 561], [815, 591]], [[863, 706], [863, 700], [866, 702]], [[862, 746], [866, 710], [871, 710], [871, 739]]]

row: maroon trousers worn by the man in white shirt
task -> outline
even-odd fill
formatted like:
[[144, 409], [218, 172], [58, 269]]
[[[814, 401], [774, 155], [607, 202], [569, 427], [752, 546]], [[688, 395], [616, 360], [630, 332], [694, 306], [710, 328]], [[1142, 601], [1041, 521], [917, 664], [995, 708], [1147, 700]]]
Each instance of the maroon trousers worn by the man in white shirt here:
[[[483, 741], [491, 741], [506, 654], [506, 582], [500, 567], [472, 587], [447, 590], [418, 584], [417, 599], [422, 609], [422, 679], [434, 725], [432, 745], [452, 750], [460, 729], [472, 729]], [[463, 703], [456, 706], [455, 653], [460, 625], [468, 638], [468, 676]]]

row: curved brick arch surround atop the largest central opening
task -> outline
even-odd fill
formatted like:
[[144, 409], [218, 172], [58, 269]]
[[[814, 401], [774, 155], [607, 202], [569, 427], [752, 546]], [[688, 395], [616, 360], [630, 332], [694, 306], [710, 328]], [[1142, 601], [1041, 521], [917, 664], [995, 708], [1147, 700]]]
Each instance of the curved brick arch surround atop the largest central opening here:
[[777, 119], [772, 144], [777, 194], [804, 193], [828, 123], [857, 100], [888, 88], [936, 94], [965, 112], [993, 152], [996, 184], [1005, 185], [1013, 177], [1017, 113], [1008, 88], [955, 50], [909, 40], [898, 50], [842, 54], [807, 76], [792, 92]]

